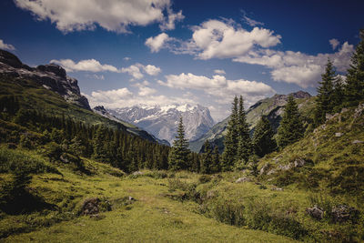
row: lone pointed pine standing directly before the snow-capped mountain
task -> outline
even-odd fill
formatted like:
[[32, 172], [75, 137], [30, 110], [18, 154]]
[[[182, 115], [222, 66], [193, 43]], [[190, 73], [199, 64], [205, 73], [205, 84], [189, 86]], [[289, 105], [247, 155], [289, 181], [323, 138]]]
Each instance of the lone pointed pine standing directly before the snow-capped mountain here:
[[169, 169], [186, 169], [189, 153], [188, 141], [185, 138], [185, 128], [183, 127], [182, 117], [180, 117], [177, 127], [177, 136], [175, 141], [173, 141], [173, 147], [168, 155]]

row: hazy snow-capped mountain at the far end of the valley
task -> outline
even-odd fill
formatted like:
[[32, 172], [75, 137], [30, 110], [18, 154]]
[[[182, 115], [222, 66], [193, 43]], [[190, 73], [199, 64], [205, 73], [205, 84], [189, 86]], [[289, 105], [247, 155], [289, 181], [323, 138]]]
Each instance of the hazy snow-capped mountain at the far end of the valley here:
[[207, 107], [196, 105], [131, 106], [106, 109], [118, 119], [142, 127], [159, 139], [172, 143], [176, 137], [177, 123], [182, 116], [186, 138], [195, 140], [214, 125]]

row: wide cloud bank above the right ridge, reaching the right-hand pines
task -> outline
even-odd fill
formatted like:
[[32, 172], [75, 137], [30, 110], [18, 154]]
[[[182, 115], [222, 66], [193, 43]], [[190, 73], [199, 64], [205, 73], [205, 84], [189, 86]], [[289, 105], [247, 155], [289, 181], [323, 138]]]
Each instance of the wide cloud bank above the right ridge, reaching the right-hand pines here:
[[301, 52], [275, 51], [270, 49], [251, 51], [248, 55], [234, 58], [233, 61], [271, 68], [275, 81], [283, 81], [307, 88], [317, 86], [324, 72], [328, 58], [339, 72], [345, 72], [350, 64], [354, 46], [345, 42], [333, 54], [307, 55]]

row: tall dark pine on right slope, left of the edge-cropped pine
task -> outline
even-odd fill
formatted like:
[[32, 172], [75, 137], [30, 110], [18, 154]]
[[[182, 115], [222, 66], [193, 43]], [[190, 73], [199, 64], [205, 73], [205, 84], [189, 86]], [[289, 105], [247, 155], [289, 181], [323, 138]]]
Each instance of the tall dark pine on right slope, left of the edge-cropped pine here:
[[334, 82], [336, 72], [332, 62], [328, 59], [325, 73], [322, 74], [322, 81], [319, 82], [318, 96], [315, 107], [315, 124], [319, 126], [326, 120], [326, 114], [332, 113], [334, 109]]

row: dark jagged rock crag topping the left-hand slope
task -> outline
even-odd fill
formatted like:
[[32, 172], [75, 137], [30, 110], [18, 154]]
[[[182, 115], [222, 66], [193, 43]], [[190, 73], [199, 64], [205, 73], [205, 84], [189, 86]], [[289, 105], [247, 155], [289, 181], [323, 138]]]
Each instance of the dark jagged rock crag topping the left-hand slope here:
[[91, 109], [88, 100], [82, 96], [75, 78], [66, 76], [66, 70], [54, 64], [30, 67], [15, 55], [0, 49], [0, 76], [30, 79], [45, 88], [63, 96], [67, 102]]

